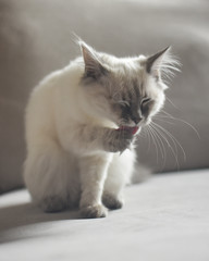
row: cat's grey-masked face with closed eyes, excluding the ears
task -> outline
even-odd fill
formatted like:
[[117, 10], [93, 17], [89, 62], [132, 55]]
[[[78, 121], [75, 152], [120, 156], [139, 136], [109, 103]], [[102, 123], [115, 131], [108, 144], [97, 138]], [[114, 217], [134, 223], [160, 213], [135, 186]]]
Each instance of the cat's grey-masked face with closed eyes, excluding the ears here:
[[163, 105], [164, 91], [144, 67], [134, 64], [134, 61], [130, 63], [133, 63], [136, 70], [132, 67], [130, 73], [121, 74], [114, 72], [107, 79], [108, 103], [112, 120], [119, 126], [143, 126], [148, 124]]

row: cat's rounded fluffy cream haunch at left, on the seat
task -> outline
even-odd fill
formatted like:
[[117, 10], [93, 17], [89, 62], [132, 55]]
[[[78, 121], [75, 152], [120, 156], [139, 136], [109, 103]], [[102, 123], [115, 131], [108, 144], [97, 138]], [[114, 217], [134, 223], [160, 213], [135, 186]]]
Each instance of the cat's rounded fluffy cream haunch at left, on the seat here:
[[45, 140], [29, 150], [24, 179], [32, 198], [44, 211], [58, 212], [78, 203], [78, 177], [76, 181], [72, 172], [78, 172], [75, 161], [54, 141]]

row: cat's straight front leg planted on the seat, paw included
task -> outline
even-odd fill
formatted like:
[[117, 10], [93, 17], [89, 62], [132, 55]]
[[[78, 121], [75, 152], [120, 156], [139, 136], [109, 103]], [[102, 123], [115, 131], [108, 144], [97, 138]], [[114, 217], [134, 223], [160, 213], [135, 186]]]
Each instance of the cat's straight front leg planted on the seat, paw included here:
[[82, 197], [79, 209], [82, 217], [94, 219], [107, 215], [107, 209], [102, 206], [101, 197], [111, 157], [110, 153], [98, 153], [81, 158]]

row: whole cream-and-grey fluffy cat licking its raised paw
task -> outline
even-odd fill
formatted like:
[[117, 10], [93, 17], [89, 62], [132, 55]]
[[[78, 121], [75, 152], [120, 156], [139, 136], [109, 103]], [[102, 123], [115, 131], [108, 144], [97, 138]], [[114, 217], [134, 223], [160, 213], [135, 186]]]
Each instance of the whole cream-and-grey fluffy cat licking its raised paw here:
[[164, 104], [170, 48], [116, 58], [78, 40], [82, 55], [33, 90], [25, 116], [24, 181], [46, 212], [78, 208], [104, 217], [122, 208], [136, 162], [134, 141]]

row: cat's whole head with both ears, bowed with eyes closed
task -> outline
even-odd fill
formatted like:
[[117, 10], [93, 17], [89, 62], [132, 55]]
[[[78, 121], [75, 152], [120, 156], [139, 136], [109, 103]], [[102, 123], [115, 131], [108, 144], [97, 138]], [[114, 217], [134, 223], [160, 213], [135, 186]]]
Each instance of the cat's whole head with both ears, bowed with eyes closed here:
[[81, 84], [88, 112], [119, 127], [148, 124], [164, 103], [168, 87], [162, 74], [176, 70], [170, 48], [151, 57], [120, 59], [97, 52], [84, 41], [79, 45], [84, 60]]

